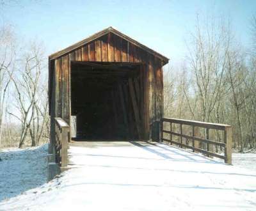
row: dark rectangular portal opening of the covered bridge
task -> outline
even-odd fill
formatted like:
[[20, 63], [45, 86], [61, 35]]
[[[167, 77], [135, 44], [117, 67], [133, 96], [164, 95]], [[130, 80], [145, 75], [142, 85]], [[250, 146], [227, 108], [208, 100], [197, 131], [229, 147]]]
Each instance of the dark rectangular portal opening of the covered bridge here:
[[143, 65], [71, 62], [74, 140], [124, 140], [143, 136]]

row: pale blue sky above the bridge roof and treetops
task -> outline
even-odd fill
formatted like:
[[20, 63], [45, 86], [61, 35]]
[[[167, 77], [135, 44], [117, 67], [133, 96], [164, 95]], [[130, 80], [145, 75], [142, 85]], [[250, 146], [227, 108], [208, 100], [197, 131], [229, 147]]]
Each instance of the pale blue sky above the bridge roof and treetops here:
[[195, 27], [196, 13], [230, 18], [238, 40], [250, 43], [253, 0], [23, 0], [2, 7], [0, 21], [12, 24], [22, 38], [42, 40], [46, 54], [113, 26], [177, 63], [186, 54], [184, 40]]

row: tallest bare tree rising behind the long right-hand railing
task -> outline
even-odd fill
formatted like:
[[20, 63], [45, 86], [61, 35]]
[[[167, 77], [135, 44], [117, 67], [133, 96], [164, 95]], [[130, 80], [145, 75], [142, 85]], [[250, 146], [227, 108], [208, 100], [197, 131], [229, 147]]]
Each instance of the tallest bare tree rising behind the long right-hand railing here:
[[195, 80], [195, 95], [200, 106], [200, 120], [210, 121], [211, 114], [221, 98], [223, 75], [232, 35], [223, 22], [202, 25], [197, 18], [196, 32], [188, 46], [189, 64]]

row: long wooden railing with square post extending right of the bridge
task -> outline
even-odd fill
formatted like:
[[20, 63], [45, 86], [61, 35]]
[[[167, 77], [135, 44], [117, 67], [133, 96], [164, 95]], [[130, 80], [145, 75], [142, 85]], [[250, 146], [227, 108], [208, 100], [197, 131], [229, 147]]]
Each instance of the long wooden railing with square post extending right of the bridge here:
[[[184, 131], [183, 125], [188, 125], [186, 132]], [[173, 131], [174, 126], [175, 131]], [[168, 129], [166, 129], [166, 127]], [[177, 127], [179, 128], [179, 132], [176, 131]], [[202, 129], [204, 132], [199, 131]], [[216, 139], [210, 139], [210, 130], [215, 130], [215, 132], [218, 131], [220, 133], [223, 131], [223, 136], [220, 136], [222, 140], [216, 141]], [[170, 139], [166, 138], [166, 134]], [[176, 140], [174, 140], [173, 137]], [[163, 118], [161, 120], [161, 141], [168, 141], [171, 145], [189, 148], [193, 150], [193, 152], [200, 152], [209, 157], [224, 159], [227, 164], [232, 163], [232, 127], [230, 125]], [[202, 146], [205, 146], [204, 149]], [[215, 146], [215, 148], [213, 146]], [[221, 149], [224, 149], [224, 155], [216, 153], [218, 150], [217, 147], [220, 147], [219, 152]]]

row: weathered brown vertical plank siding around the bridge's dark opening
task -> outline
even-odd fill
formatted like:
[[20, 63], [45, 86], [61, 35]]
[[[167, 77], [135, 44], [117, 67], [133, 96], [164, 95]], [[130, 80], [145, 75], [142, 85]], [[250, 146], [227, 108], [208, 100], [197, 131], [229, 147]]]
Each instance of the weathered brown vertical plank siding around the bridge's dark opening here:
[[[56, 58], [55, 84], [52, 84], [51, 109], [55, 117], [62, 117], [70, 123], [70, 63], [71, 61], [109, 61], [143, 63], [136, 88], [140, 87], [140, 111], [143, 138], [148, 139], [150, 126], [160, 121], [163, 115], [163, 70], [162, 61], [140, 47], [108, 33], [93, 42]], [[53, 70], [51, 70], [53, 71]], [[144, 95], [142, 94], [144, 93]], [[153, 135], [152, 135], [153, 136]]]

